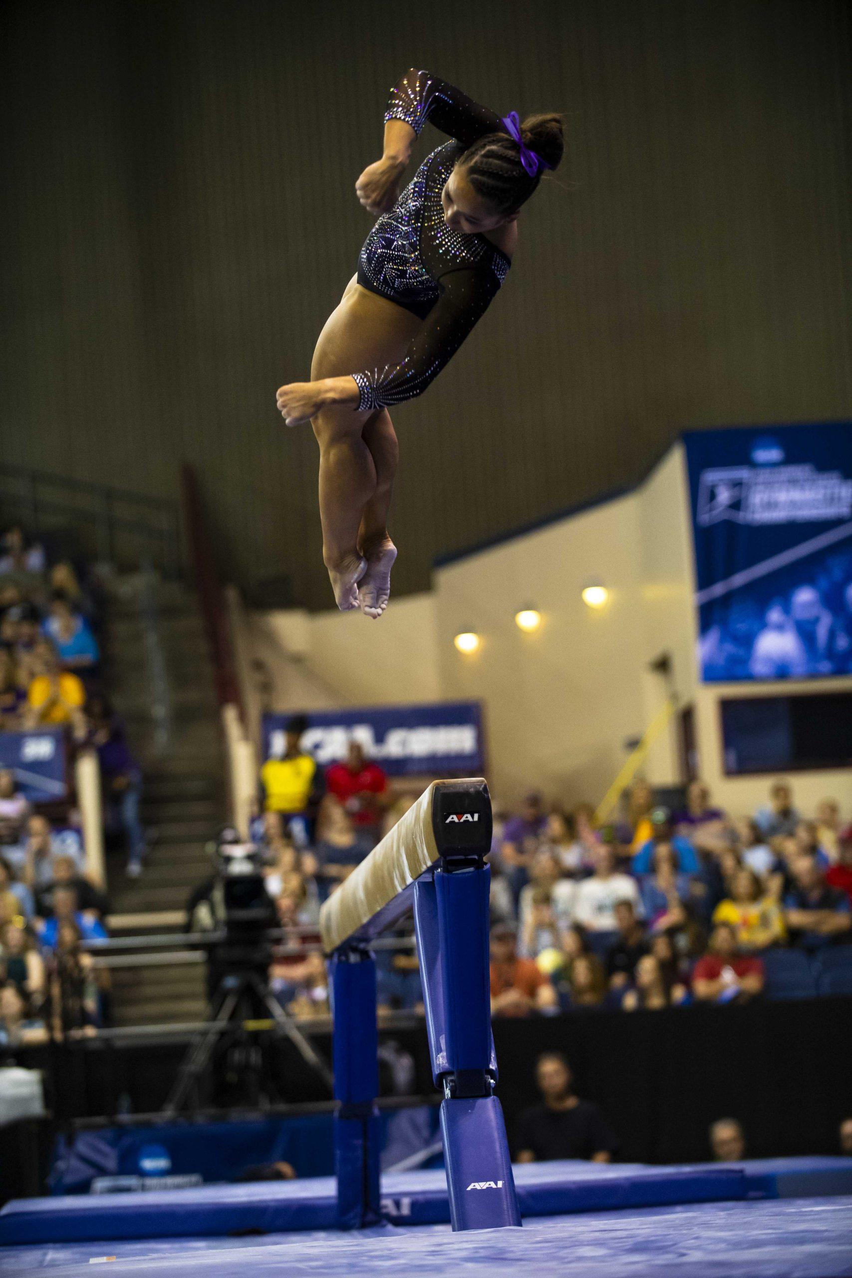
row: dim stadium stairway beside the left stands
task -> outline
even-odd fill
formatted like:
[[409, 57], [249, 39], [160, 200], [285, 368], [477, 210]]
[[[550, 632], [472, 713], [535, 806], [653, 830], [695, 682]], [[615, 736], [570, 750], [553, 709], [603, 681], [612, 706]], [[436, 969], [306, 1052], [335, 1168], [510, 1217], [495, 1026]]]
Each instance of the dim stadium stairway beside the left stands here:
[[[149, 838], [135, 879], [125, 874], [124, 850], [107, 850], [112, 930], [179, 932], [189, 893], [212, 869], [206, 845], [226, 819], [220, 712], [194, 593], [153, 573], [116, 576], [107, 588], [105, 649], [107, 690], [142, 767]], [[198, 955], [160, 958], [112, 969], [116, 1026], [203, 1019]]]

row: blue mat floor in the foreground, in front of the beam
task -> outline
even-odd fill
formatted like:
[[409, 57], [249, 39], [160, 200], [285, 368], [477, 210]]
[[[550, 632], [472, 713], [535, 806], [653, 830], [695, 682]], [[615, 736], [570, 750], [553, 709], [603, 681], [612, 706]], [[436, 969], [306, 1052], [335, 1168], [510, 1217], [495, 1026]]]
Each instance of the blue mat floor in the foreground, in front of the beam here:
[[175, 1238], [0, 1251], [0, 1274], [91, 1278], [852, 1278], [852, 1199], [778, 1199], [540, 1217], [521, 1229]]

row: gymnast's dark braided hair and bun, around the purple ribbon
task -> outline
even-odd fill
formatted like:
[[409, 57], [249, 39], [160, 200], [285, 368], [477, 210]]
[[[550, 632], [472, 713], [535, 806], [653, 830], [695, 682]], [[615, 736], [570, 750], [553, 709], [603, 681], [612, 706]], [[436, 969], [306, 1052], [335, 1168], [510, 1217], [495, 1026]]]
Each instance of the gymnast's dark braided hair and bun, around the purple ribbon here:
[[[552, 169], [562, 160], [565, 150], [562, 116], [528, 115], [521, 123], [524, 146], [535, 151]], [[520, 160], [517, 142], [507, 133], [485, 133], [464, 151], [459, 160], [465, 178], [476, 194], [497, 216], [517, 212], [542, 180], [543, 170], [531, 178]]]

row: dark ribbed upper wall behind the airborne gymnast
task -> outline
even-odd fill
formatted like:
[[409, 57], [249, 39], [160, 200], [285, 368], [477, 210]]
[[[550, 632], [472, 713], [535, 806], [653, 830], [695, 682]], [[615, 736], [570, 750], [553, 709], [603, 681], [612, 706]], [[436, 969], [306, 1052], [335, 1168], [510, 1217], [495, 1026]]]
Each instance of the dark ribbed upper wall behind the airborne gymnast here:
[[844, 0], [6, 3], [0, 463], [171, 496], [189, 459], [231, 575], [330, 606], [316, 445], [275, 390], [355, 271], [411, 64], [565, 111], [568, 147], [491, 312], [396, 410], [397, 590], [681, 429], [847, 415], [849, 26]]

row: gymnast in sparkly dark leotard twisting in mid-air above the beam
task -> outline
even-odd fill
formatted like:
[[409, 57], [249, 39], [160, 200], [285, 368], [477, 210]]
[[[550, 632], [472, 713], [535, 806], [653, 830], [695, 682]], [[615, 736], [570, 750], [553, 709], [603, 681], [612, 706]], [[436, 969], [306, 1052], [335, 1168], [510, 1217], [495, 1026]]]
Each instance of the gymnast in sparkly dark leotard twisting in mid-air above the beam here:
[[[400, 193], [427, 120], [451, 141]], [[309, 420], [319, 443], [323, 560], [344, 612], [381, 617], [391, 592], [399, 445], [388, 405], [422, 395], [484, 314], [511, 265], [521, 204], [561, 158], [557, 114], [501, 118], [425, 70], [391, 89], [382, 158], [355, 184], [379, 216], [319, 334], [310, 381], [277, 392], [286, 424]]]

